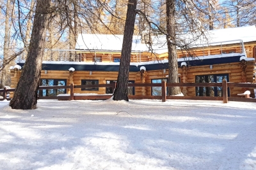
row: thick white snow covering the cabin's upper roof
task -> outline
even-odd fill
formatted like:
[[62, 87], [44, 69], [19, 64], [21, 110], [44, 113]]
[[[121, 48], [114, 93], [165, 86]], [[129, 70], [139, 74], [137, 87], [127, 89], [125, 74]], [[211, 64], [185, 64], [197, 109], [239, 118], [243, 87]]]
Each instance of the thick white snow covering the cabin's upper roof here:
[[[226, 42], [225, 44], [239, 43], [238, 40], [243, 42], [256, 41], [256, 27], [255, 25], [246, 27], [234, 27], [227, 29], [216, 29], [207, 32], [209, 37], [207, 41], [205, 38], [198, 39], [194, 45], [204, 43], [214, 43], [212, 45], [220, 45], [221, 41], [234, 41]], [[189, 38], [187, 34], [184, 36]], [[113, 34], [79, 34], [76, 43], [76, 49], [79, 50], [106, 50], [106, 51], [120, 51], [122, 50], [123, 35]], [[152, 36], [153, 48], [156, 53], [168, 52], [166, 46], [165, 36]], [[223, 43], [222, 43], [223, 44]], [[148, 47], [146, 44], [141, 43], [141, 36], [133, 36], [132, 38], [132, 51], [147, 52]]]

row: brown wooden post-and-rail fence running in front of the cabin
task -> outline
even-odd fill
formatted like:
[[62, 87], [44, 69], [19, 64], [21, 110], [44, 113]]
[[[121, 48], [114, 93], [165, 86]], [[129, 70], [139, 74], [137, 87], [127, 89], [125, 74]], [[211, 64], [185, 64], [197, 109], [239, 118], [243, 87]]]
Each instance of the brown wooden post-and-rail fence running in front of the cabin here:
[[[189, 99], [189, 100], [212, 100], [212, 101], [223, 101], [223, 103], [228, 103], [228, 101], [243, 101], [243, 102], [253, 102], [256, 103], [256, 99], [245, 98], [245, 97], [228, 97], [228, 87], [241, 87], [245, 89], [255, 89], [255, 83], [227, 83], [223, 80], [222, 83], [129, 83], [129, 87], [161, 87], [161, 96], [129, 96], [129, 99], [161, 99], [163, 102], [166, 99]], [[109, 99], [112, 94], [109, 95], [95, 95], [95, 96], [74, 96], [74, 89], [81, 88], [92, 88], [92, 87], [112, 87], [115, 89], [116, 84], [99, 84], [99, 85], [67, 85], [67, 86], [40, 86], [38, 90], [49, 90], [49, 89], [70, 89], [70, 96], [38, 96], [38, 99], [59, 99], [59, 100], [84, 100], [84, 99]], [[166, 96], [166, 87], [222, 87], [222, 97], [209, 97], [209, 96]], [[0, 90], [3, 92], [4, 99], [10, 100], [6, 97], [7, 92], [14, 92], [15, 89]]]

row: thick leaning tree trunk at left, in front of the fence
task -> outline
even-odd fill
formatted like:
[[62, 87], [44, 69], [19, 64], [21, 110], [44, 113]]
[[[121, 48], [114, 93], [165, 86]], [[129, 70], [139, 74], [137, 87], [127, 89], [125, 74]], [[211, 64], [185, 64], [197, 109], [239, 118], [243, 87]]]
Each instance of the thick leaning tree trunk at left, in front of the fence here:
[[42, 70], [42, 58], [45, 48], [45, 29], [47, 27], [47, 9], [51, 0], [38, 0], [29, 43], [28, 57], [24, 64], [19, 83], [10, 101], [12, 109], [36, 109], [37, 93]]

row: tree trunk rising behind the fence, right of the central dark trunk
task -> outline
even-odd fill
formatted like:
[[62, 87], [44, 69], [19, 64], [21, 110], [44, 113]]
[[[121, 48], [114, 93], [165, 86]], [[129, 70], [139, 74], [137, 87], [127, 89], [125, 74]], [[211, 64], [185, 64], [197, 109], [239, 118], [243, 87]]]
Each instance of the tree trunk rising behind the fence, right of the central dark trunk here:
[[[175, 45], [175, 0], [166, 0], [166, 30], [169, 62], [168, 82], [179, 83], [177, 50]], [[169, 96], [179, 93], [179, 87], [168, 87]]]

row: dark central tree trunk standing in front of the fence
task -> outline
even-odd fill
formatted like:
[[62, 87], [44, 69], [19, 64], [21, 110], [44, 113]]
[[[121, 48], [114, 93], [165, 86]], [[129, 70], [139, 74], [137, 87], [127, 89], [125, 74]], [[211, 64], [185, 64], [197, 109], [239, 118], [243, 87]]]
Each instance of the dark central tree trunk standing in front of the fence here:
[[129, 101], [128, 81], [129, 81], [129, 69], [130, 69], [130, 62], [131, 62], [132, 36], [134, 33], [134, 24], [136, 19], [136, 11], [135, 11], [136, 6], [137, 6], [137, 0], [128, 1], [120, 66], [119, 66], [119, 72], [118, 72], [118, 77], [116, 81], [116, 89], [113, 97], [114, 101], [120, 101], [120, 100]]

